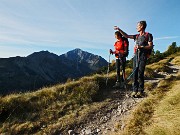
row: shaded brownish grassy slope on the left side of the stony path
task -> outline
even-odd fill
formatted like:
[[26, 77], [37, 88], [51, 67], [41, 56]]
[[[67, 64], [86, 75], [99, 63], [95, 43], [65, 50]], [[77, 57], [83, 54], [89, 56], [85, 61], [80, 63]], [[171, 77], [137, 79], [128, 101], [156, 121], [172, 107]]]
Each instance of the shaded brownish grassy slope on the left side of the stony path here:
[[[167, 64], [169, 58], [163, 61]], [[177, 63], [178, 59], [174, 62]], [[160, 71], [165, 70], [163, 64], [158, 68]], [[153, 66], [147, 69], [146, 76], [153, 77]], [[128, 69], [127, 72], [129, 74], [131, 70]], [[115, 75], [110, 73], [109, 84], [114, 84]], [[88, 114], [107, 104], [103, 97], [105, 80], [106, 75], [94, 75], [32, 93], [0, 98], [0, 133], [56, 134], [73, 127], [74, 124], [82, 122]], [[111, 85], [109, 87], [112, 87]]]

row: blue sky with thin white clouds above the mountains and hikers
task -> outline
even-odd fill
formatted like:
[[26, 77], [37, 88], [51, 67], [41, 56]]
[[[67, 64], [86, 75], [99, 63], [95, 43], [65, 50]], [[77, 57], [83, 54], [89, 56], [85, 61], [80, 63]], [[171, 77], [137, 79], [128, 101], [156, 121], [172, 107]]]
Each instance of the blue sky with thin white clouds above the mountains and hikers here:
[[[0, 58], [80, 48], [108, 59], [113, 26], [136, 34], [147, 21], [155, 50], [180, 44], [179, 0], [0, 0]], [[130, 39], [130, 56], [134, 42]]]

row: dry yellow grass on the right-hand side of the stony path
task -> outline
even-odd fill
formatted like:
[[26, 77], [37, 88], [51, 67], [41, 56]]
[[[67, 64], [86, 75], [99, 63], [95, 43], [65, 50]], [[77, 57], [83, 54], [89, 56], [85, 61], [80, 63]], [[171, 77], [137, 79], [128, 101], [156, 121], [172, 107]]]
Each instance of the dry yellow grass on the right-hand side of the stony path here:
[[[173, 59], [173, 60], [172, 60]], [[168, 62], [180, 66], [180, 55], [172, 55], [158, 63], [148, 65], [153, 70], [169, 71]], [[149, 92], [127, 120], [124, 135], [179, 135], [180, 133], [180, 91], [177, 77], [170, 76]], [[153, 87], [153, 86], [149, 86]]]

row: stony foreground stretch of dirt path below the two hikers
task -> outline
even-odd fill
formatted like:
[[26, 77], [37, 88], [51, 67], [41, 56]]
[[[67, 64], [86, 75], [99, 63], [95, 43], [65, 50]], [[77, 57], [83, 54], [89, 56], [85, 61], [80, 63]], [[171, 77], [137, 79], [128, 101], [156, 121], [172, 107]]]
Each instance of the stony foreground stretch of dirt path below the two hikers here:
[[[117, 94], [117, 93], [116, 93]], [[130, 110], [143, 99], [133, 99], [125, 97], [110, 102], [114, 106], [111, 110], [104, 108], [101, 112], [94, 115], [94, 119], [87, 123], [80, 130], [80, 135], [105, 135], [116, 132], [119, 127], [124, 128], [124, 117], [130, 113]]]

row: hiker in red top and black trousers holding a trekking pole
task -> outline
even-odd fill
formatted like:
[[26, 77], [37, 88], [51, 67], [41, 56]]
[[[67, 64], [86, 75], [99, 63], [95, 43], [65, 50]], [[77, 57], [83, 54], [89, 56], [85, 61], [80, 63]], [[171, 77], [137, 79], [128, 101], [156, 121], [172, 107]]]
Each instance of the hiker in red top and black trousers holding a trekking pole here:
[[[116, 42], [114, 44], [115, 51], [110, 49], [110, 54], [115, 54], [116, 57], [116, 72], [117, 72], [117, 81], [114, 88], [123, 88], [124, 87], [124, 75], [125, 75], [125, 64], [126, 64], [126, 57], [125, 54], [127, 53], [128, 49], [128, 40], [122, 37], [122, 34], [119, 31], [115, 32]], [[122, 65], [123, 74], [120, 77], [120, 66]]]

